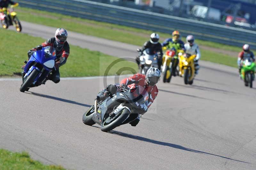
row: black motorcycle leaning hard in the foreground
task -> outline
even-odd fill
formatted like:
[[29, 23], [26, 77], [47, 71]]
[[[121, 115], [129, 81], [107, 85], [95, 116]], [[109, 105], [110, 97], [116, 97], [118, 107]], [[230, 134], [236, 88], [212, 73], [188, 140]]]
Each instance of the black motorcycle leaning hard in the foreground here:
[[[147, 112], [148, 92], [142, 86], [132, 86], [111, 95], [104, 101], [95, 100], [83, 115], [85, 125], [100, 125], [103, 132], [108, 132], [122, 124], [136, 119], [138, 114]], [[130, 119], [129, 119], [130, 118]], [[131, 119], [134, 118], [134, 119]]]

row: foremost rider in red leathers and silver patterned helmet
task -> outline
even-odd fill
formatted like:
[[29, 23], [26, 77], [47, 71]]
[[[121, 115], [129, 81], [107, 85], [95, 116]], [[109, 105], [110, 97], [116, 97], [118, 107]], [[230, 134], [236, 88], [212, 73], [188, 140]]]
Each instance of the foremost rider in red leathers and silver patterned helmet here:
[[[116, 84], [108, 85], [106, 89], [103, 89], [99, 92], [96, 99], [98, 101], [103, 101], [107, 97], [116, 94], [121, 90], [121, 88], [124, 89], [130, 89], [132, 86], [139, 85], [144, 87], [148, 91], [148, 108], [150, 105], [154, 102], [156, 99], [156, 96], [158, 94], [158, 89], [156, 87], [156, 83], [159, 81], [161, 76], [160, 70], [156, 67], [150, 67], [146, 73], [146, 75], [143, 74], [134, 74], [133, 76], [130, 76], [128, 78], [123, 79], [120, 82], [120, 86]], [[132, 114], [129, 118], [130, 120], [127, 120], [127, 123], [130, 123], [132, 126], [136, 126], [140, 121], [139, 114]]]

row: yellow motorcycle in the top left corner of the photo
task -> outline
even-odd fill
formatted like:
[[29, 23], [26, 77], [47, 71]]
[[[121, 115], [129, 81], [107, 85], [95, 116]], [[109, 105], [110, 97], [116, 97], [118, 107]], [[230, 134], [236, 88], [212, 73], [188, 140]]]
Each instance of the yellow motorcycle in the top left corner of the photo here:
[[21, 24], [20, 20], [17, 17], [17, 12], [14, 11], [14, 7], [18, 6], [19, 4], [16, 3], [11, 5], [10, 8], [2, 8], [0, 9], [0, 20], [2, 27], [7, 29], [10, 25], [16, 27], [16, 31], [21, 32]]

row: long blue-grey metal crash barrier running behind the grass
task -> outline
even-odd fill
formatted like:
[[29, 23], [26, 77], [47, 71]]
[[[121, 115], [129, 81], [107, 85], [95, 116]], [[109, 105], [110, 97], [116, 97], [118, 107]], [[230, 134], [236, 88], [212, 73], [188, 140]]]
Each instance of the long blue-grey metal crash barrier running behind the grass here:
[[256, 32], [252, 30], [87, 0], [16, 1], [23, 7], [156, 32], [171, 33], [173, 30], [178, 29], [183, 36], [193, 34], [198, 39], [235, 46], [242, 46], [244, 43], [249, 43], [252, 49], [256, 49]]

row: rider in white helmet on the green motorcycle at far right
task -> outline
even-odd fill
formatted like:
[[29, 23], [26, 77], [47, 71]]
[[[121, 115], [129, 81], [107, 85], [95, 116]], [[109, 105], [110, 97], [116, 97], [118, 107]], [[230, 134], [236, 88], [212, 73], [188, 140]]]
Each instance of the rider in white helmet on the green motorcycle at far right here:
[[[250, 46], [249, 44], [244, 44], [243, 45], [243, 51], [239, 52], [238, 57], [237, 57], [237, 66], [238, 66], [238, 71], [239, 73], [241, 72], [241, 64], [243, 63], [244, 58], [252, 58], [252, 61], [255, 61], [254, 54], [252, 51], [250, 51]], [[240, 74], [239, 74], [240, 76]]]

